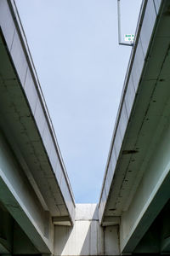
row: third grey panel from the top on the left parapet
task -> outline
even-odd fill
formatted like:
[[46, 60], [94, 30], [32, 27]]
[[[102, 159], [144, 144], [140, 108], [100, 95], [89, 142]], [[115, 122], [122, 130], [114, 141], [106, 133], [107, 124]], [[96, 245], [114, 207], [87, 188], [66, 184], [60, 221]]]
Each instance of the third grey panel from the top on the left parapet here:
[[27, 69], [27, 72], [26, 72], [26, 82], [25, 82], [24, 88], [25, 88], [26, 96], [31, 108], [31, 112], [34, 115], [36, 105], [37, 105], [37, 90], [36, 90], [29, 68]]

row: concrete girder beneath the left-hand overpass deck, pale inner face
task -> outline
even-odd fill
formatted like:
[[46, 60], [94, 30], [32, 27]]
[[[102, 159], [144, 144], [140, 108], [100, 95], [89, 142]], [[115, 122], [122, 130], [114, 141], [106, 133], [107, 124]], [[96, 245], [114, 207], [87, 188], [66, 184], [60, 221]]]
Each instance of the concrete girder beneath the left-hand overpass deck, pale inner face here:
[[[0, 133], [0, 201], [40, 253], [53, 253], [53, 233], [29, 181]], [[48, 233], [45, 232], [48, 225]]]

